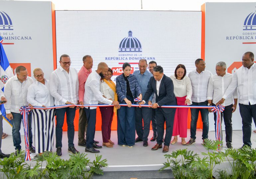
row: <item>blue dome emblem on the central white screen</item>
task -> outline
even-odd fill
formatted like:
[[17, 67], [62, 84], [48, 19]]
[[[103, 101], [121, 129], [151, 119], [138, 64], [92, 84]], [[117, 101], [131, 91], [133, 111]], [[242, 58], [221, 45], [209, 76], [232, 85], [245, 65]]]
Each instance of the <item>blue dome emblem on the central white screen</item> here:
[[119, 52], [142, 52], [140, 41], [132, 36], [132, 31], [128, 32], [128, 37], [122, 39], [119, 45]]

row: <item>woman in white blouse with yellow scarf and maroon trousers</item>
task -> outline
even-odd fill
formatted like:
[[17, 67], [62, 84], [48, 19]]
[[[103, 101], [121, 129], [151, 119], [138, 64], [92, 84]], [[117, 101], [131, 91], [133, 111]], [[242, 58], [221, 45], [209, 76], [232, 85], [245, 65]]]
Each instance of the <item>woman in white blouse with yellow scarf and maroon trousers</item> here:
[[[100, 91], [103, 93], [103, 96], [112, 100], [117, 101], [116, 94], [116, 85], [111, 80], [113, 75], [113, 71], [108, 68], [107, 74], [101, 79], [100, 83]], [[116, 115], [116, 108], [114, 106], [109, 107], [99, 107], [101, 113], [101, 132], [102, 132], [102, 146], [113, 147], [114, 143], [110, 140], [111, 135], [111, 124], [113, 120], [113, 114]]]

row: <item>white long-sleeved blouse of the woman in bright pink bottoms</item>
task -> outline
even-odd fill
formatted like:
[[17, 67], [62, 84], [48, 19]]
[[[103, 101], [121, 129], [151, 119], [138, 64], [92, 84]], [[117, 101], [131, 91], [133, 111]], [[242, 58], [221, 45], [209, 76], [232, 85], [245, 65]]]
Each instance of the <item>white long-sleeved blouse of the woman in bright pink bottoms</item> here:
[[176, 97], [187, 96], [186, 99], [191, 101], [192, 85], [190, 78], [185, 76], [182, 80], [178, 80], [175, 75], [170, 76], [173, 81], [174, 94]]

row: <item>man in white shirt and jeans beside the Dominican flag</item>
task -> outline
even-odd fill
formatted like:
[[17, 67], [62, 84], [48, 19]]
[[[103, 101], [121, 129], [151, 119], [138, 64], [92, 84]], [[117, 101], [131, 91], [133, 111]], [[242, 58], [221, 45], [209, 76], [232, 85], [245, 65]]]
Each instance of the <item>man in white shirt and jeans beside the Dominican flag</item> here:
[[[7, 102], [4, 104], [6, 117], [12, 121], [12, 138], [15, 147], [15, 154], [21, 150], [20, 128], [22, 115], [20, 114], [21, 106], [28, 106], [27, 93], [29, 86], [34, 82], [28, 75], [28, 71], [24, 66], [16, 68], [16, 75], [11, 77], [5, 85], [4, 95]], [[29, 122], [29, 150], [35, 152], [32, 146], [32, 116], [28, 115]]]

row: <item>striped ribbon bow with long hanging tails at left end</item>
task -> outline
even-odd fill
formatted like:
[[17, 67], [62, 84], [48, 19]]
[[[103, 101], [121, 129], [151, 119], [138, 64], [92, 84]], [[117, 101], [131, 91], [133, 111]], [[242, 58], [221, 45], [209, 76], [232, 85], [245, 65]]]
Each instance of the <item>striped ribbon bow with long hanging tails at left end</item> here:
[[24, 127], [24, 136], [25, 136], [25, 161], [30, 161], [30, 153], [29, 153], [29, 123], [28, 123], [28, 115], [30, 112], [29, 106], [21, 106], [19, 109], [22, 119], [23, 119], [23, 127]]

